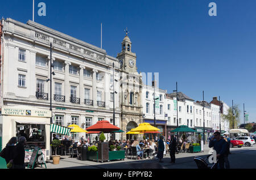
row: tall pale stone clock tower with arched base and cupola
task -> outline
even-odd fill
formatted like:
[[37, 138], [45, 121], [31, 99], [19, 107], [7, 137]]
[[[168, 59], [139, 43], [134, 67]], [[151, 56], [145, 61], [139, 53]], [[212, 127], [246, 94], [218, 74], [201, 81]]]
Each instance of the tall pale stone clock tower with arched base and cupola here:
[[[122, 41], [122, 51], [117, 54], [121, 68], [121, 92], [119, 100], [121, 105], [121, 134], [122, 139], [132, 139], [126, 134], [131, 128], [143, 122], [142, 114], [142, 75], [137, 72], [136, 54], [131, 52], [131, 40], [127, 36]], [[138, 137], [138, 135], [135, 135]], [[142, 138], [142, 137], [141, 137]]]

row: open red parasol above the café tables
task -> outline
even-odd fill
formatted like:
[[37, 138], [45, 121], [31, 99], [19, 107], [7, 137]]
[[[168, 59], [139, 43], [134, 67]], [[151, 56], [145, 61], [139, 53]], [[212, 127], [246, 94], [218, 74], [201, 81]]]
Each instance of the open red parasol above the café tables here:
[[101, 131], [101, 132], [112, 132], [117, 131], [120, 128], [109, 123], [109, 121], [98, 121], [95, 125], [86, 128], [87, 131]]

